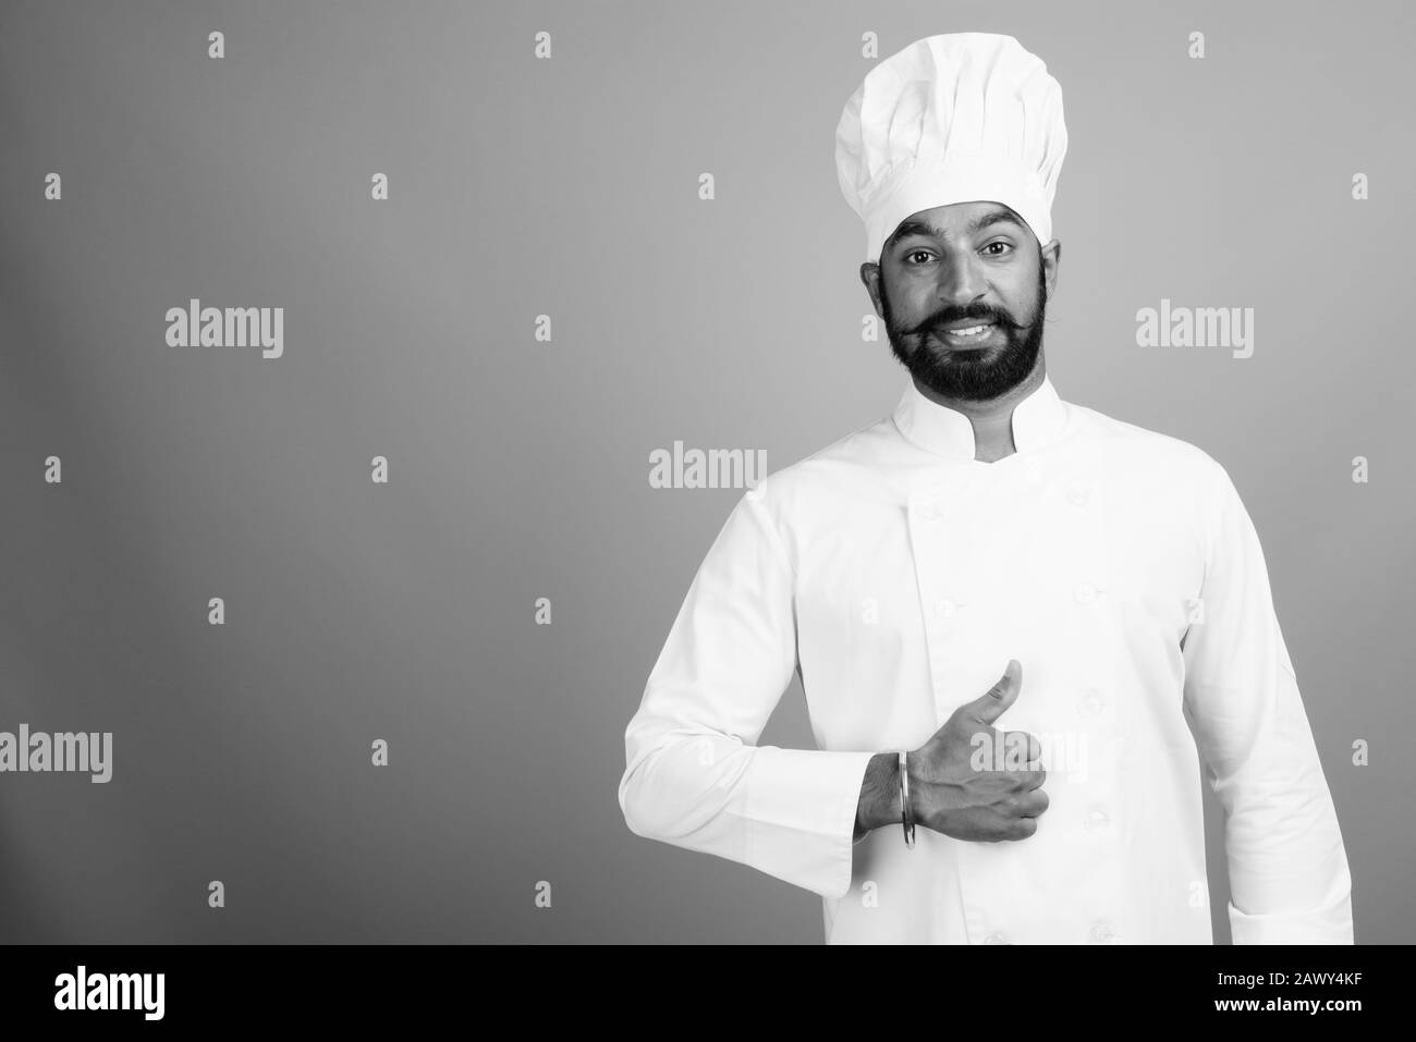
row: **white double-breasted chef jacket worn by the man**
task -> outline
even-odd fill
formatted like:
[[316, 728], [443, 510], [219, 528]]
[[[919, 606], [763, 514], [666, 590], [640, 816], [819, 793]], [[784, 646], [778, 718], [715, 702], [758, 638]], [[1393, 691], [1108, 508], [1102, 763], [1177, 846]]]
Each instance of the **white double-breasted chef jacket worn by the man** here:
[[[1202, 766], [1235, 943], [1352, 943], [1342, 835], [1225, 469], [1049, 378], [1012, 439], [976, 460], [969, 418], [906, 381], [892, 416], [738, 500], [624, 733], [629, 828], [821, 895], [828, 943], [1209, 944]], [[1044, 743], [1035, 834], [852, 842], [871, 756], [918, 749], [1008, 658], [1021, 694], [994, 726]], [[818, 749], [758, 746], [793, 671]]]

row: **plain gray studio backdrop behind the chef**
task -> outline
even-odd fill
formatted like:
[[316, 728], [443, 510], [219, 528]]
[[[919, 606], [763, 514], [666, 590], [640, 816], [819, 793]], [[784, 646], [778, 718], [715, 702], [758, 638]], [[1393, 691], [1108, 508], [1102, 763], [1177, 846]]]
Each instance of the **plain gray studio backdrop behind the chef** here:
[[[653, 490], [649, 452], [777, 470], [893, 408], [833, 136], [864, 31], [964, 30], [1062, 84], [1054, 384], [1229, 469], [1358, 941], [1413, 940], [1408, 4], [14, 0], [0, 729], [112, 731], [115, 767], [0, 776], [0, 939], [820, 943], [817, 896], [620, 817], [741, 496]], [[193, 296], [285, 307], [285, 357], [167, 347]], [[1253, 357], [1137, 348], [1161, 297], [1256, 309]], [[762, 740], [811, 746], [799, 689]]]

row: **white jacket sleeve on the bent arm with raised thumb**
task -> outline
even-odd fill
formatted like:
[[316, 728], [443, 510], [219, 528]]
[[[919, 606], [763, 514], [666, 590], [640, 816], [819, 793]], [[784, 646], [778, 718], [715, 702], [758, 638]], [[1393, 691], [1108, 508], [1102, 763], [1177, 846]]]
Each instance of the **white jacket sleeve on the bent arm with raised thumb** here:
[[797, 647], [792, 569], [760, 494], [733, 507], [650, 672], [620, 810], [636, 835], [840, 898], [871, 753], [756, 745]]

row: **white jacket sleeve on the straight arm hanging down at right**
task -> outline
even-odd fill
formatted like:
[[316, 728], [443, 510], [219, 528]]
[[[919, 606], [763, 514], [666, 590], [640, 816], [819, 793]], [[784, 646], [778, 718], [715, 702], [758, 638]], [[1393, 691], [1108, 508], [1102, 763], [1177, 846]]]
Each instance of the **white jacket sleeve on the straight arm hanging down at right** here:
[[1351, 944], [1337, 813], [1259, 537], [1222, 467], [1209, 517], [1202, 613], [1182, 641], [1185, 705], [1225, 810], [1233, 943]]

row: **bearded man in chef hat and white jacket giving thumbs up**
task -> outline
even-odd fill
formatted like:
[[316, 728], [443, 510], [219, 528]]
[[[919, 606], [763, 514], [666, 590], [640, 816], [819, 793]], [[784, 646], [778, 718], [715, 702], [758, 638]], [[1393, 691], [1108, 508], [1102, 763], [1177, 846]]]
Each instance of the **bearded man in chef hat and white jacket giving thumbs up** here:
[[[620, 807], [821, 895], [833, 943], [1208, 944], [1202, 762], [1235, 941], [1352, 943], [1235, 486], [1046, 377], [1065, 151], [1061, 88], [1012, 37], [916, 41], [852, 95], [841, 187], [910, 381], [739, 500], [626, 731]], [[820, 749], [759, 748], [794, 670]]]

